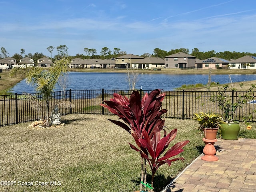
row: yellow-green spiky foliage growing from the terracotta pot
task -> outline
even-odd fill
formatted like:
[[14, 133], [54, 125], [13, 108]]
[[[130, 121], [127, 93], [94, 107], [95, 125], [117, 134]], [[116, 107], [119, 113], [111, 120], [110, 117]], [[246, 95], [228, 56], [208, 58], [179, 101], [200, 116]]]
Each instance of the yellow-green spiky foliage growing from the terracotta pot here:
[[199, 123], [198, 130], [200, 133], [204, 132], [204, 129], [209, 129], [209, 128], [219, 128], [221, 123], [225, 123], [222, 120], [222, 116], [220, 114], [213, 114], [213, 113], [195, 113], [195, 118]]

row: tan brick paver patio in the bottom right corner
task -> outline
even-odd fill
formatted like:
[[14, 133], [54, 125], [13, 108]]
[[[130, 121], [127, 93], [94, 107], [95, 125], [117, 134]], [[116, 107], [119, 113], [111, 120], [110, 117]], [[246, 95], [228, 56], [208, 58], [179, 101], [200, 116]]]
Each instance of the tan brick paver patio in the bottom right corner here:
[[202, 154], [162, 192], [256, 192], [256, 139], [218, 139], [214, 146], [218, 161]]

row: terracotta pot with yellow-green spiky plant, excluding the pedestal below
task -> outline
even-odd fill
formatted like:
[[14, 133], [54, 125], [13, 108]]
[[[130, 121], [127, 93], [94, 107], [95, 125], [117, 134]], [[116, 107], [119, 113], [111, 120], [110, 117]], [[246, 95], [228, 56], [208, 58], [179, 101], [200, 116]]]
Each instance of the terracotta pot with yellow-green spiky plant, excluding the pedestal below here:
[[206, 139], [216, 139], [220, 124], [225, 123], [219, 114], [204, 112], [195, 113], [194, 120], [200, 124], [198, 130], [201, 134], [204, 133], [204, 138]]

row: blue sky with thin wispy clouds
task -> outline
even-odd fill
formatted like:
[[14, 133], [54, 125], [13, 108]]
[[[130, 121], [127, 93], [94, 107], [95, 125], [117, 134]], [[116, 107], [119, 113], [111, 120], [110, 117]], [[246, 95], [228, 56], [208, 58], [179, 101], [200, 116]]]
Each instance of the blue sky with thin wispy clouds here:
[[[0, 47], [50, 56], [48, 46], [256, 53], [254, 0], [0, 0]], [[53, 55], [57, 54], [56, 49]]]

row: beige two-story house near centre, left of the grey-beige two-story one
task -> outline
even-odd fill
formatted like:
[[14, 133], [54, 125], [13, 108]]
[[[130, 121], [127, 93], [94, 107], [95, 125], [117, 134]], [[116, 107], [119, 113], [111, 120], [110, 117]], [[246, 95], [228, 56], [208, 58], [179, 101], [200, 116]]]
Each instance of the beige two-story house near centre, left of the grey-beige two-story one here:
[[115, 67], [117, 68], [131, 68], [133, 63], [138, 62], [138, 60], [144, 59], [144, 57], [127, 54], [116, 58]]

